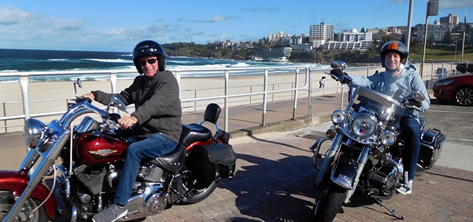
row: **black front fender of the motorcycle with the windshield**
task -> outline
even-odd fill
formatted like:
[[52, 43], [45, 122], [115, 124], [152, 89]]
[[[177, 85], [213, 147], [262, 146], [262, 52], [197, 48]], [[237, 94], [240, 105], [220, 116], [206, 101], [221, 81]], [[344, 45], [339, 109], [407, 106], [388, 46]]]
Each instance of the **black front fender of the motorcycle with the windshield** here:
[[353, 189], [358, 172], [358, 161], [341, 153], [332, 168], [332, 181], [345, 189]]

